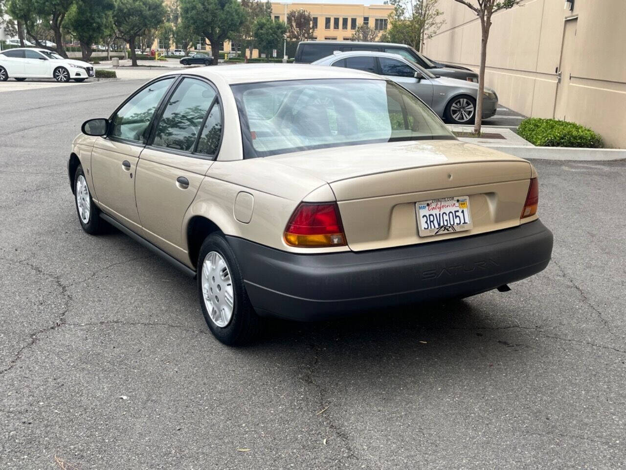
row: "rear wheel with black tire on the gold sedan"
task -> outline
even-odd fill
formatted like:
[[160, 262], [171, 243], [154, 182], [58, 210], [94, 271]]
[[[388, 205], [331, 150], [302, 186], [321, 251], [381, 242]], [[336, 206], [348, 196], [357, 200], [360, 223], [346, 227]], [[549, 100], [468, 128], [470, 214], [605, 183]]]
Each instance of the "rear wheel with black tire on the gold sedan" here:
[[259, 316], [245, 291], [235, 253], [221, 234], [211, 234], [200, 248], [197, 266], [202, 315], [215, 338], [244, 345], [259, 329]]

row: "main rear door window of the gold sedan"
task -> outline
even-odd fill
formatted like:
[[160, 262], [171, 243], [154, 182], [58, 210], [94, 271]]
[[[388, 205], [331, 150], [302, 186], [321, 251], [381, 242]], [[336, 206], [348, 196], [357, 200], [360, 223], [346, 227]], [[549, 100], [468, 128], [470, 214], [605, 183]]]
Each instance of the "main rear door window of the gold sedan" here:
[[193, 152], [205, 115], [216, 96], [208, 83], [185, 78], [172, 94], [156, 125], [152, 145]]

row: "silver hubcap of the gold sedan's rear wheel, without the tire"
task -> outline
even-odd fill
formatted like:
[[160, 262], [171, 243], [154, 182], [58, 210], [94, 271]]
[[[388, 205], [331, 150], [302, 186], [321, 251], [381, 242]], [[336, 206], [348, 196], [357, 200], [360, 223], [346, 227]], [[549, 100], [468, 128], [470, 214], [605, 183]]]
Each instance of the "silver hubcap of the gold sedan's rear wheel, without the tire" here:
[[211, 251], [202, 263], [202, 296], [211, 321], [220, 328], [230, 323], [234, 292], [230, 269], [223, 256]]

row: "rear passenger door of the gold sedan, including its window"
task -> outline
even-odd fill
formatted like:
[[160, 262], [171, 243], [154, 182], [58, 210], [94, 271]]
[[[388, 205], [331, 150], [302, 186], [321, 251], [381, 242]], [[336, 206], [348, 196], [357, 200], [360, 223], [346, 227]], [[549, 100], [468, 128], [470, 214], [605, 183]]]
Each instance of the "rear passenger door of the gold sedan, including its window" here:
[[202, 78], [185, 76], [156, 118], [141, 152], [135, 196], [143, 236], [184, 258], [183, 217], [217, 155], [222, 110], [217, 90]]

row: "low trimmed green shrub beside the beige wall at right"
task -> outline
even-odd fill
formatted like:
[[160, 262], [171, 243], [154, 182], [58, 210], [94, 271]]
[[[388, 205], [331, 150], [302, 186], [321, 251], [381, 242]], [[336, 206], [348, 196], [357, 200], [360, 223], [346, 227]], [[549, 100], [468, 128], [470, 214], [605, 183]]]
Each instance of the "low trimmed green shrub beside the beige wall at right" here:
[[593, 130], [575, 122], [557, 119], [528, 118], [523, 120], [517, 133], [538, 147], [602, 147], [602, 137]]

